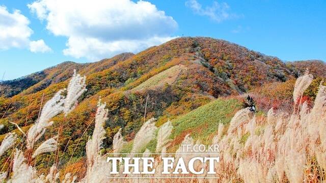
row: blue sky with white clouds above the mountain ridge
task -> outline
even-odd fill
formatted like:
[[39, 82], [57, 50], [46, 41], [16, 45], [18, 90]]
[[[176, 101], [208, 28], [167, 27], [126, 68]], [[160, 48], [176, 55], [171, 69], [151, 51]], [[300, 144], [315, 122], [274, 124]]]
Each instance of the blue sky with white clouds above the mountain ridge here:
[[326, 60], [321, 0], [0, 0], [0, 6], [0, 80], [66, 60], [137, 53], [182, 35], [228, 40], [285, 61]]

